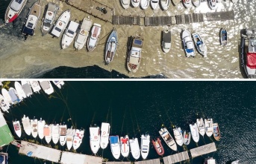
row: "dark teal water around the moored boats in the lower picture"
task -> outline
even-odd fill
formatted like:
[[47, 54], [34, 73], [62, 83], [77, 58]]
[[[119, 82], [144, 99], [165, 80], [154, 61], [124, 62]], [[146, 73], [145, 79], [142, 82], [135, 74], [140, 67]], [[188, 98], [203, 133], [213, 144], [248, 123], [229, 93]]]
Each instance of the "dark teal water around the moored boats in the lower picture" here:
[[[219, 123], [221, 140], [216, 142], [212, 137], [200, 136], [199, 143], [193, 140], [188, 150], [216, 143], [217, 151], [202, 157], [190, 159], [191, 164], [202, 164], [206, 157], [213, 157], [216, 163], [230, 163], [241, 160], [242, 164], [256, 161], [256, 120], [255, 120], [255, 82], [66, 82], [63, 89], [54, 86], [54, 94], [48, 96], [43, 92], [25, 99], [9, 114], [4, 114], [10, 130], [16, 140], [34, 140], [24, 131], [22, 139], [14, 134], [12, 121], [21, 120], [23, 114], [31, 119], [42, 117], [47, 123], [65, 122], [68, 127], [84, 128], [84, 140], [77, 149], [78, 153], [92, 154], [90, 151], [89, 127], [110, 123], [110, 135], [128, 134], [129, 137], [140, 138], [148, 133], [152, 138], [159, 137], [161, 125], [165, 125], [172, 133], [172, 125], [189, 130], [189, 123], [198, 117], [213, 118]], [[72, 118], [71, 121], [68, 121]], [[37, 138], [37, 142], [47, 145], [45, 140]], [[51, 145], [54, 147], [54, 145]], [[164, 157], [175, 154], [165, 148]], [[66, 146], [60, 150], [66, 150]], [[43, 163], [31, 157], [19, 155], [13, 145], [4, 151], [10, 154], [10, 163], [20, 164]], [[184, 148], [178, 146], [178, 151]], [[113, 161], [110, 146], [98, 152], [99, 156]], [[151, 145], [148, 159], [159, 158]], [[131, 154], [120, 160], [134, 161]], [[140, 160], [142, 158], [140, 157]], [[49, 162], [46, 162], [49, 163]]]

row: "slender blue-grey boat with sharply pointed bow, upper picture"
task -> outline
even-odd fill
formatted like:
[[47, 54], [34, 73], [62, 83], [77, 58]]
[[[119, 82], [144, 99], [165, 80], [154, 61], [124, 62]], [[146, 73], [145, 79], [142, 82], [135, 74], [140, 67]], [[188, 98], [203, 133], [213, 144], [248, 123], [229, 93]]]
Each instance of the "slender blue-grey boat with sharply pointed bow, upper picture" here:
[[116, 46], [117, 46], [117, 35], [116, 30], [113, 29], [110, 36], [108, 36], [106, 48], [105, 48], [105, 62], [108, 65], [110, 62], [113, 61], [113, 56], [116, 53]]

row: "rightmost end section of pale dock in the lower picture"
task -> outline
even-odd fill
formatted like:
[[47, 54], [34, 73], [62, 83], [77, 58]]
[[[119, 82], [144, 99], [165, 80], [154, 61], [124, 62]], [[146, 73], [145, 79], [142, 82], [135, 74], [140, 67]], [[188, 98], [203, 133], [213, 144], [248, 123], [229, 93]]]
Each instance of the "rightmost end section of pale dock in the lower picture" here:
[[190, 150], [190, 153], [191, 153], [191, 156], [192, 157], [198, 157], [198, 156], [201, 156], [203, 154], [208, 154], [208, 153], [211, 153], [213, 151], [216, 151], [216, 145], [214, 142], [212, 143], [209, 143], [207, 145], [202, 145], [202, 146], [199, 146], [198, 148], [193, 148]]

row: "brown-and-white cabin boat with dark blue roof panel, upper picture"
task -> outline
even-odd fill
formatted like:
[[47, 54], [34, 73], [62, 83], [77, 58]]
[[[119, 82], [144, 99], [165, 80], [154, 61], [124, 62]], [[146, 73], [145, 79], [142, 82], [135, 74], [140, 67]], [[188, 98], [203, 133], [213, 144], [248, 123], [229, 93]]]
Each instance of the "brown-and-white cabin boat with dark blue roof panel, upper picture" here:
[[140, 37], [131, 36], [127, 59], [127, 68], [131, 72], [135, 73], [139, 69], [142, 47], [143, 39]]

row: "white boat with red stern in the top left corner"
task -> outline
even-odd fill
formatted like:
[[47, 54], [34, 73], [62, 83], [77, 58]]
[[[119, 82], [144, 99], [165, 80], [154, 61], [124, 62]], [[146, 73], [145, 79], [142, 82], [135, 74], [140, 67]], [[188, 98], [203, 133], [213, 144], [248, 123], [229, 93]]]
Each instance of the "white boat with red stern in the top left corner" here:
[[12, 0], [5, 12], [5, 23], [13, 22], [22, 12], [27, 0]]

